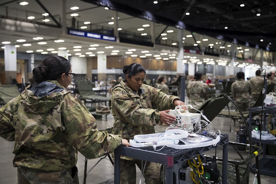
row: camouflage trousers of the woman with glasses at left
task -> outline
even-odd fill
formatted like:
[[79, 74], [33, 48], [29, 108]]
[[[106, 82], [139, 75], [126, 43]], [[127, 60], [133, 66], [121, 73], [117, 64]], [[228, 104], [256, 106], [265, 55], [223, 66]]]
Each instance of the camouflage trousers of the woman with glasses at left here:
[[79, 184], [76, 166], [65, 171], [41, 171], [26, 167], [17, 168], [18, 184]]

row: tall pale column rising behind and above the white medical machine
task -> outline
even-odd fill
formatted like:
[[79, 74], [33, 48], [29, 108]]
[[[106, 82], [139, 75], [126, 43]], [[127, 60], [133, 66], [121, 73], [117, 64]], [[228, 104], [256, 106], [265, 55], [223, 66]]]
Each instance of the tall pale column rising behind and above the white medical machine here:
[[177, 76], [183, 76], [185, 73], [185, 65], [183, 65], [183, 30], [178, 29], [177, 30], [177, 40], [178, 40], [178, 55], [177, 55], [177, 65], [176, 65], [176, 75]]

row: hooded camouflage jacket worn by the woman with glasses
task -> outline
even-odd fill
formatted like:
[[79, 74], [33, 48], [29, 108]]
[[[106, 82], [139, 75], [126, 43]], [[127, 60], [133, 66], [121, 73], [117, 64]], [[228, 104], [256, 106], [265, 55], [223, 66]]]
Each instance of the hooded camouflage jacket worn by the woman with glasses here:
[[57, 81], [29, 85], [0, 109], [0, 136], [15, 141], [14, 167], [61, 171], [109, 154], [121, 141], [96, 129], [85, 105]]

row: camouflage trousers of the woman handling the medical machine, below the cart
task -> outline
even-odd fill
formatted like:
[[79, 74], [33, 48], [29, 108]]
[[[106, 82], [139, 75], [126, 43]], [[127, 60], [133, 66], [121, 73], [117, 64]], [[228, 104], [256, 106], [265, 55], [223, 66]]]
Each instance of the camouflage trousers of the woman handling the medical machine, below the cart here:
[[[154, 162], [147, 162], [142, 160], [125, 160], [121, 159], [121, 184], [136, 184], [136, 165], [142, 169], [145, 167], [144, 178], [146, 184], [160, 184], [160, 167], [161, 165]], [[143, 167], [143, 168], [142, 168]]]

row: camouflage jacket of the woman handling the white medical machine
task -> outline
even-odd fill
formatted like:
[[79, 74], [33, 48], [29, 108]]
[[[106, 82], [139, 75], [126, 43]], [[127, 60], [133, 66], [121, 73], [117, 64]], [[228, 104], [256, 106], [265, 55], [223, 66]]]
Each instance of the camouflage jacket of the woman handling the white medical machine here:
[[[135, 91], [136, 93], [136, 91]], [[160, 89], [142, 84], [135, 94], [125, 85], [125, 79], [112, 89], [111, 108], [114, 116], [112, 134], [123, 139], [133, 139], [137, 134], [153, 134], [154, 125], [159, 123], [160, 111], [174, 109], [177, 96], [167, 95]], [[127, 157], [121, 157], [133, 160]]]

